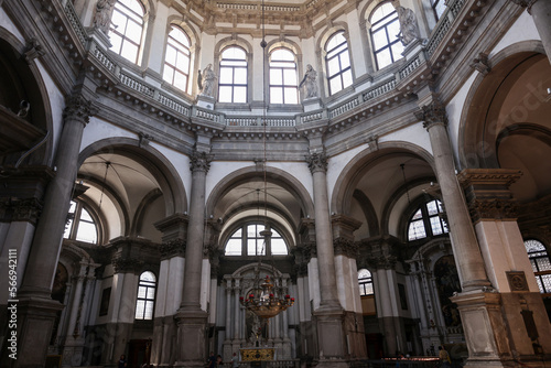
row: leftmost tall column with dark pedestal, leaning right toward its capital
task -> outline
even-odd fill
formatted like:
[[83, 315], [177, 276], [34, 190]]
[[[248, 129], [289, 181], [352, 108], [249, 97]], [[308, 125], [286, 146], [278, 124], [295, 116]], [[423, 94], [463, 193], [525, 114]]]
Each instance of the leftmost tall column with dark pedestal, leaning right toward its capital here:
[[[51, 299], [52, 283], [78, 170], [77, 159], [83, 131], [91, 115], [89, 100], [79, 94], [67, 97], [63, 112], [63, 130], [54, 161], [56, 174], [46, 188], [26, 272], [17, 295], [19, 367], [44, 366], [55, 315], [63, 309], [61, 303]], [[36, 334], [36, 331], [41, 333]], [[3, 365], [4, 361], [1, 362]]]

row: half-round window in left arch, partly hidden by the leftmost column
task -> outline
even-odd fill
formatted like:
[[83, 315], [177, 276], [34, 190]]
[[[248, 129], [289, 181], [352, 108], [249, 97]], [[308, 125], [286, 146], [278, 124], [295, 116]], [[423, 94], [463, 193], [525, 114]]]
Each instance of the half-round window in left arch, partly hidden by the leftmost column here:
[[98, 242], [98, 227], [90, 212], [85, 208], [82, 202], [71, 201], [71, 207], [67, 215], [67, 225], [65, 226], [65, 239]]

